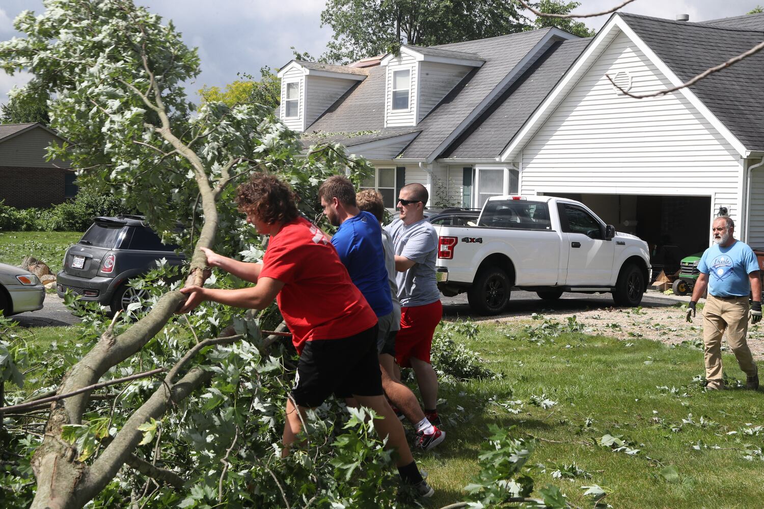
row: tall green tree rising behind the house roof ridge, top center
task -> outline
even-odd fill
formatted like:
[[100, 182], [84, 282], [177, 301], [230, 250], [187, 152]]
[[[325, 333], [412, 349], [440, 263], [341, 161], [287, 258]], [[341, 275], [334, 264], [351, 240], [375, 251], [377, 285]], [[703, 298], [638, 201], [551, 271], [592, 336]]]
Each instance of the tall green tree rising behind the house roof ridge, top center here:
[[396, 51], [513, 34], [527, 18], [512, 0], [329, 0], [321, 23], [332, 27], [322, 60], [350, 63]]

